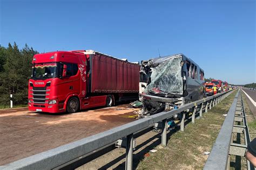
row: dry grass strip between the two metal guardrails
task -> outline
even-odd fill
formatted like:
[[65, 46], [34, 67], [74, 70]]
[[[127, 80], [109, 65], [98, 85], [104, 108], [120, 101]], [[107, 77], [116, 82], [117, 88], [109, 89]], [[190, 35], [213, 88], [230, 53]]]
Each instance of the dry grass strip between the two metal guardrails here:
[[138, 169], [202, 169], [211, 152], [221, 125], [237, 94], [235, 90], [222, 102], [215, 105], [203, 118], [196, 119], [195, 124], [189, 123], [185, 132], [177, 131], [169, 138], [165, 148], [157, 146], [155, 153], [144, 157]]

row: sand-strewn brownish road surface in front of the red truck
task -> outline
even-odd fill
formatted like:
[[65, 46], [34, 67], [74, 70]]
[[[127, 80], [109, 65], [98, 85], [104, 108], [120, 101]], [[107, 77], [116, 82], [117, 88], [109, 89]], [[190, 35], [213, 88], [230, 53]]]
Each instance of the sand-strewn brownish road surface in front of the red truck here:
[[28, 108], [0, 110], [0, 165], [71, 143], [136, 119], [129, 104], [75, 114], [38, 114]]

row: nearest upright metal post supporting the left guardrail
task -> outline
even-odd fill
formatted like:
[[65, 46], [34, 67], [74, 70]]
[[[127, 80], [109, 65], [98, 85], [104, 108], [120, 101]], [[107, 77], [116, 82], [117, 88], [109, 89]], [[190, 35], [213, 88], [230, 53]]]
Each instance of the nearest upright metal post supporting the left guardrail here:
[[129, 134], [126, 137], [126, 159], [125, 169], [132, 170], [132, 152], [133, 152], [133, 134]]

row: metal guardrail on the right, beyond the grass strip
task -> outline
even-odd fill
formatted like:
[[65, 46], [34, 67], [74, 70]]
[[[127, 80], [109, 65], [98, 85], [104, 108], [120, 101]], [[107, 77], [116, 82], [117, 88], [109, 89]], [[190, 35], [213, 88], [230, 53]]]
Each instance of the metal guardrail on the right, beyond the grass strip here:
[[[237, 134], [236, 142], [240, 141], [240, 144], [233, 143], [234, 133]], [[241, 144], [240, 134], [242, 133], [244, 134], [245, 144]], [[230, 155], [244, 157], [247, 150], [247, 144], [250, 143], [250, 141], [244, 103], [242, 102], [241, 90], [239, 89], [235, 95], [231, 108], [227, 113], [204, 169], [230, 169]], [[254, 169], [253, 165], [248, 160], [247, 169]]]

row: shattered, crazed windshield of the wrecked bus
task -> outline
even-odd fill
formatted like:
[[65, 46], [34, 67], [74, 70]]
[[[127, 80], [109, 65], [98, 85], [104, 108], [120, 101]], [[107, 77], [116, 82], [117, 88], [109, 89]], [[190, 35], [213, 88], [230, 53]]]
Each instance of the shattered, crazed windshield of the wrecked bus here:
[[145, 89], [146, 94], [183, 94], [181, 76], [182, 56], [153, 59], [151, 83]]

